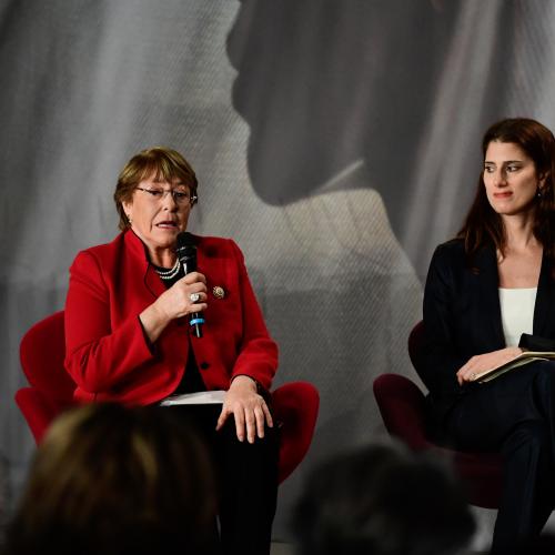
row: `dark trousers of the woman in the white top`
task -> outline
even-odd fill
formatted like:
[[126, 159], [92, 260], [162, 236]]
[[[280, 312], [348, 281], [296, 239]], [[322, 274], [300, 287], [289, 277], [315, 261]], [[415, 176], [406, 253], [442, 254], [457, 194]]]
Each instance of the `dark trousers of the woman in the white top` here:
[[555, 362], [474, 384], [445, 422], [466, 451], [498, 451], [503, 491], [492, 554], [526, 553], [555, 506]]

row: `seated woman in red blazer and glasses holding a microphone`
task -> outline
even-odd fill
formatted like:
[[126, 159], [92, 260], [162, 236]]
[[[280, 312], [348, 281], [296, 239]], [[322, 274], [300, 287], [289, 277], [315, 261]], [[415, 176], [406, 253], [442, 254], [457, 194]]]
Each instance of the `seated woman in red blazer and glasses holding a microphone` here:
[[[278, 487], [265, 395], [278, 347], [233, 241], [194, 238], [199, 271], [184, 275], [175, 243], [196, 186], [191, 165], [173, 150], [144, 150], [128, 162], [114, 193], [122, 233], [80, 252], [70, 269], [65, 367], [82, 402], [148, 405], [225, 390], [223, 406], [179, 410], [219, 463], [224, 553], [260, 555], [270, 552]], [[189, 325], [199, 312], [202, 337]]]

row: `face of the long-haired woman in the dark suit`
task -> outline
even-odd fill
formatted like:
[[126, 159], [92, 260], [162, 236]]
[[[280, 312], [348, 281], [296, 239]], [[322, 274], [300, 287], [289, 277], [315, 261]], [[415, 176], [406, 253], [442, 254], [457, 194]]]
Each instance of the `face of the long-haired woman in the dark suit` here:
[[484, 184], [490, 204], [501, 215], [529, 211], [543, 186], [534, 161], [515, 143], [492, 141], [484, 160]]

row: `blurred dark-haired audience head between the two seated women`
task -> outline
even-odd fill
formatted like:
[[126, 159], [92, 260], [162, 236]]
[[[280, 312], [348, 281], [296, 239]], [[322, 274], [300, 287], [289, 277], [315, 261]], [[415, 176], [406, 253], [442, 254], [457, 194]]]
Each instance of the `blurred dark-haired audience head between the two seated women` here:
[[391, 446], [316, 467], [293, 526], [301, 555], [455, 554], [475, 527], [447, 468]]

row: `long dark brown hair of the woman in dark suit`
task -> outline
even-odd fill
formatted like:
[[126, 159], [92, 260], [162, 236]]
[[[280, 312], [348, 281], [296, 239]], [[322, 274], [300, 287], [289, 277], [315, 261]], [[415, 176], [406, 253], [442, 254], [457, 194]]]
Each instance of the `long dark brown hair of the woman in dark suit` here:
[[[544, 180], [542, 194], [536, 196], [534, 236], [546, 255], [555, 259], [555, 138], [542, 123], [527, 118], [512, 118], [494, 123], [482, 141], [483, 160], [492, 141], [517, 144], [533, 161], [538, 178]], [[468, 259], [483, 246], [493, 244], [502, 253], [506, 248], [503, 220], [487, 200], [484, 172], [480, 173], [476, 195], [457, 238], [464, 240]]]

